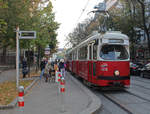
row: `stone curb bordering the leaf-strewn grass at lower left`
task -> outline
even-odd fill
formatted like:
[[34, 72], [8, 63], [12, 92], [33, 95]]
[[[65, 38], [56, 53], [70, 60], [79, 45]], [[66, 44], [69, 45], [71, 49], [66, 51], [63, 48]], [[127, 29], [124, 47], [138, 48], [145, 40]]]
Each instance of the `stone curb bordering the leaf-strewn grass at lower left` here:
[[[28, 92], [28, 90], [38, 81], [39, 79], [35, 79], [28, 87], [26, 87], [26, 89], [24, 90], [24, 94], [26, 94]], [[13, 100], [10, 104], [8, 105], [0, 105], [0, 110], [5, 110], [5, 109], [12, 109], [15, 108], [17, 106], [17, 101], [18, 101], [18, 97], [15, 98], [15, 100]]]

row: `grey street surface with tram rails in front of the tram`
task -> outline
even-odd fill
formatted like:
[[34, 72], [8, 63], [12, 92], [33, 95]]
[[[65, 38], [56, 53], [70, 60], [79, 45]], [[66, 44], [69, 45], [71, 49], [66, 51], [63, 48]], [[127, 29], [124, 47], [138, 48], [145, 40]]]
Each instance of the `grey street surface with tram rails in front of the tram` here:
[[150, 79], [131, 77], [129, 89], [92, 91], [102, 100], [99, 114], [150, 114]]

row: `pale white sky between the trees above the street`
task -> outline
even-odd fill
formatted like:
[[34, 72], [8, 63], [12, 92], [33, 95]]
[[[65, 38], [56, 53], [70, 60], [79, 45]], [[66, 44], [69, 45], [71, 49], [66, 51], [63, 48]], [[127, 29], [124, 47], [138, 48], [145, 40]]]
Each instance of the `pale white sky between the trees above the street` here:
[[[88, 13], [93, 10], [95, 5], [98, 5], [98, 3], [102, 1], [103, 0], [52, 0], [55, 19], [60, 23], [60, 27], [57, 30], [59, 48], [66, 46], [67, 42], [65, 39], [67, 35], [73, 31], [79, 22], [92, 17], [94, 14]], [[86, 9], [84, 10], [84, 8]], [[81, 16], [82, 12], [83, 14]]]

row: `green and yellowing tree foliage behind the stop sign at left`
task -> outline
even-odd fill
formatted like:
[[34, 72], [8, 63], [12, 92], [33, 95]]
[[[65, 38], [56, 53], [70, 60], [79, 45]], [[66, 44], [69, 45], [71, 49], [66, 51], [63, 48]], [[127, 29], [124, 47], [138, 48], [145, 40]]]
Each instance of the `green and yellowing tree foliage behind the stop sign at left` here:
[[20, 40], [21, 48], [45, 48], [49, 44], [56, 47], [56, 30], [59, 24], [54, 21], [55, 15], [49, 0], [0, 0], [0, 14], [1, 47], [15, 48], [17, 25], [20, 30], [37, 32], [36, 40]]

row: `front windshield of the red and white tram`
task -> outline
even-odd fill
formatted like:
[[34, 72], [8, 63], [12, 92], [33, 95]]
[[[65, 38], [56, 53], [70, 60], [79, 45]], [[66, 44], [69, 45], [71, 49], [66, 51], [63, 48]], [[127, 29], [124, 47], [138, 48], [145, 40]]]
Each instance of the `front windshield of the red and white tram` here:
[[100, 50], [100, 57], [104, 60], [126, 60], [129, 55], [125, 46], [103, 45]]

